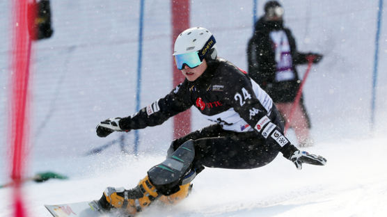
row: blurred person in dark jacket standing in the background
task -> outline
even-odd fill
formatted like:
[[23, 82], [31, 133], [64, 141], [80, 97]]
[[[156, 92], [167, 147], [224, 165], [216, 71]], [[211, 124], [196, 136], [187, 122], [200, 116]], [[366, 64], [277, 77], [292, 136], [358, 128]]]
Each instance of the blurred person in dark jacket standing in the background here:
[[310, 120], [303, 99], [294, 109], [294, 118], [289, 120], [294, 99], [300, 87], [296, 65], [318, 63], [321, 54], [297, 51], [292, 31], [283, 26], [283, 7], [278, 1], [264, 5], [264, 15], [255, 23], [255, 32], [248, 41], [248, 75], [270, 95], [278, 111], [289, 122], [296, 133], [299, 146], [313, 145], [310, 138]]

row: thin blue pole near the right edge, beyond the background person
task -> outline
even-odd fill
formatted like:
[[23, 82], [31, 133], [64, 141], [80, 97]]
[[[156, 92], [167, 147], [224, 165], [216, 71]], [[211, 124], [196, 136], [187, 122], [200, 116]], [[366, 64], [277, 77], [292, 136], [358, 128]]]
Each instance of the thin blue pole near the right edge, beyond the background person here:
[[379, 38], [381, 29], [381, 15], [383, 14], [383, 0], [379, 0], [379, 8], [377, 15], [377, 33], [375, 37], [375, 54], [374, 54], [374, 73], [372, 74], [372, 99], [371, 99], [371, 130], [374, 129], [375, 119], [375, 101], [377, 95], [377, 70], [379, 63]]

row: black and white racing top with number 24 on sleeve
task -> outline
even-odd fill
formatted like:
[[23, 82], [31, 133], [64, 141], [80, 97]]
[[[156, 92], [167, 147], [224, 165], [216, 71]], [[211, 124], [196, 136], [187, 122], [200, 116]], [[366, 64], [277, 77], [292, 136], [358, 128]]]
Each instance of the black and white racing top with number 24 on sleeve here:
[[271, 97], [232, 63], [218, 58], [207, 65], [196, 81], [185, 79], [165, 97], [120, 120], [121, 129], [159, 125], [195, 106], [223, 129], [241, 134], [255, 132], [265, 143], [281, 145], [281, 152], [290, 156], [294, 147], [283, 136], [283, 125], [278, 124], [281, 118], [278, 112], [272, 112], [275, 105]]

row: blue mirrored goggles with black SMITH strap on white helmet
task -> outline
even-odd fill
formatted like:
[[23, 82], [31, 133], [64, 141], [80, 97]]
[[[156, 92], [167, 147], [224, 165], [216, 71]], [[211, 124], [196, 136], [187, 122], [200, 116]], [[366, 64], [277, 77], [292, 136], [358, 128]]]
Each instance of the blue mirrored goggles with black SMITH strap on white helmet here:
[[214, 47], [215, 43], [214, 35], [211, 35], [210, 39], [205, 42], [205, 45], [199, 51], [174, 55], [177, 69], [184, 69], [184, 65], [188, 65], [190, 68], [198, 67], [203, 63], [205, 55]]

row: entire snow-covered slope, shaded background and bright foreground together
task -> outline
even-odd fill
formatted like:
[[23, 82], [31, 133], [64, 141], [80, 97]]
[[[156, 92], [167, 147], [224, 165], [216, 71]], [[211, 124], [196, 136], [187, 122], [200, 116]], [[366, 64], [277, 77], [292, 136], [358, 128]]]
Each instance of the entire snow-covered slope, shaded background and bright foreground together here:
[[[54, 1], [54, 35], [35, 42], [31, 63], [31, 134], [26, 175], [52, 170], [50, 179], [23, 187], [29, 216], [50, 216], [43, 204], [100, 198], [106, 186], [134, 187], [160, 163], [172, 140], [171, 120], [139, 131], [102, 154], [85, 156], [123, 134], [95, 135], [106, 118], [135, 112], [140, 1]], [[265, 1], [258, 1], [262, 15]], [[12, 1], [0, 1], [0, 184], [9, 182], [8, 81]], [[295, 166], [281, 154], [253, 170], [206, 168], [189, 198], [173, 207], [155, 204], [139, 216], [386, 216], [387, 28], [384, 1], [379, 41], [375, 122], [370, 127], [377, 0], [284, 0], [285, 26], [299, 51], [324, 55], [313, 65], [304, 100], [316, 143], [305, 150], [326, 166]], [[191, 1], [191, 26], [216, 38], [219, 56], [246, 70], [253, 1]], [[170, 1], [145, 1], [141, 107], [164, 97], [172, 86]], [[300, 77], [305, 65], [298, 67]], [[192, 129], [209, 122], [192, 109]], [[294, 144], [293, 131], [287, 135]], [[0, 188], [0, 216], [12, 216], [12, 188]]]

